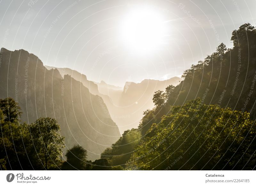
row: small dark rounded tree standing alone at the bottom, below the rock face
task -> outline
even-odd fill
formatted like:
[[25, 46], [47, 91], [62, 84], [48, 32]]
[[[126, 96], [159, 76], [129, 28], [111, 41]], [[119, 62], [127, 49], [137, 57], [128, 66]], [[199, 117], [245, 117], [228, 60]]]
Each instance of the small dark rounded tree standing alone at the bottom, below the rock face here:
[[67, 170], [85, 170], [87, 150], [80, 145], [74, 145], [66, 153], [67, 162], [64, 169]]

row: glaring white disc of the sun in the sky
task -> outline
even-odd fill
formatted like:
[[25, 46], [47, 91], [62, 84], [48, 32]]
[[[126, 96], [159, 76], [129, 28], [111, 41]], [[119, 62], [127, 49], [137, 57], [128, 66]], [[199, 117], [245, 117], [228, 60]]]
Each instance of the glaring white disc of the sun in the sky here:
[[156, 11], [135, 10], [122, 22], [121, 38], [129, 48], [145, 52], [163, 43], [165, 31], [164, 20]]

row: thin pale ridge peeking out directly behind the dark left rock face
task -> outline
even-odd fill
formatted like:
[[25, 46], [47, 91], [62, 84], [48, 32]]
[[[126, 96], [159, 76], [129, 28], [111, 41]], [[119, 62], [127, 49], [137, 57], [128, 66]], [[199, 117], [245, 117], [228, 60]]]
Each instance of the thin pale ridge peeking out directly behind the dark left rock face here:
[[83, 83], [83, 85], [89, 89], [90, 93], [92, 93], [93, 95], [99, 95], [98, 86], [94, 82], [87, 80], [87, 77], [84, 74], [81, 74], [80, 72], [69, 68], [57, 68], [47, 65], [44, 66], [48, 70], [57, 69], [62, 77], [67, 74], [70, 75], [72, 78]]

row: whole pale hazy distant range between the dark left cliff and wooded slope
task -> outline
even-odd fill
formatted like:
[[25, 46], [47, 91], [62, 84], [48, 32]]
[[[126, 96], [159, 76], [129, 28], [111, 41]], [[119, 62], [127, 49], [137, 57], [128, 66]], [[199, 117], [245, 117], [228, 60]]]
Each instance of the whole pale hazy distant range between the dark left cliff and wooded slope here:
[[[47, 69], [56, 67], [45, 66]], [[164, 81], [144, 79], [140, 83], [126, 82], [124, 87], [109, 85], [104, 81], [100, 83], [87, 80], [84, 74], [69, 68], [56, 68], [62, 76], [70, 75], [83, 83], [92, 94], [99, 95], [106, 104], [103, 111], [111, 116], [121, 133], [124, 130], [137, 128], [143, 111], [154, 107], [153, 95], [157, 90], [165, 90], [169, 85], [178, 85], [181, 78], [173, 77]]]

